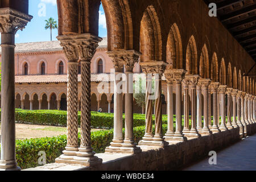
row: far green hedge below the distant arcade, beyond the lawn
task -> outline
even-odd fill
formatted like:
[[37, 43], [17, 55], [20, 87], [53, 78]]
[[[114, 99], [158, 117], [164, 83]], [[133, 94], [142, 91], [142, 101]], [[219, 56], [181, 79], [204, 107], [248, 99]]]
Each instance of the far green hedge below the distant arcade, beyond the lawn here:
[[[80, 114], [78, 113], [79, 125]], [[48, 126], [67, 126], [67, 111], [59, 110], [21, 110], [16, 109], [16, 123], [24, 123], [31, 125], [48, 125]], [[91, 114], [91, 126], [94, 129], [112, 129], [114, 127], [113, 113], [97, 113]], [[155, 117], [152, 117], [153, 123]], [[163, 115], [163, 123], [167, 124], [167, 115]], [[134, 127], [145, 125], [144, 114], [134, 114]], [[125, 126], [125, 115], [123, 114], [123, 127]]]

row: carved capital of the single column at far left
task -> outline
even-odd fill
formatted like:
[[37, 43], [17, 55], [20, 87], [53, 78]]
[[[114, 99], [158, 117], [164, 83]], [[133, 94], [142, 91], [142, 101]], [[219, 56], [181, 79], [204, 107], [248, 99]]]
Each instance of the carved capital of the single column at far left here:
[[31, 15], [10, 8], [0, 9], [0, 32], [16, 34], [18, 30], [23, 30], [32, 18]]

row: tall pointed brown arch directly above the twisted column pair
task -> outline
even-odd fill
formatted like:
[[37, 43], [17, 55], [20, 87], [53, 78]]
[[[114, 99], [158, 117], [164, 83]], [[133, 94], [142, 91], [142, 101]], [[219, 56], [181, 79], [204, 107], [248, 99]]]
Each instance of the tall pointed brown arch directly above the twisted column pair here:
[[154, 7], [148, 6], [141, 20], [141, 61], [162, 60], [162, 32]]

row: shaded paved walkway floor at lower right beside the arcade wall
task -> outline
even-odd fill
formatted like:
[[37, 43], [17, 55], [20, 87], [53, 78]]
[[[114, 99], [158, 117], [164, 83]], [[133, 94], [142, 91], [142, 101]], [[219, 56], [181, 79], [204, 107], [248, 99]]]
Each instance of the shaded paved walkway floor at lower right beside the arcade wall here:
[[[209, 156], [210, 158], [210, 156]], [[217, 164], [210, 165], [209, 158], [184, 171], [256, 171], [256, 134], [217, 152]]]

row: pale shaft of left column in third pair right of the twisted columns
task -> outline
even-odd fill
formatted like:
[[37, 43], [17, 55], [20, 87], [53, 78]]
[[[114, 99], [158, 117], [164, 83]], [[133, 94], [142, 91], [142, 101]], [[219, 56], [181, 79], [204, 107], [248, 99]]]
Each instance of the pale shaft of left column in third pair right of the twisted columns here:
[[201, 86], [197, 85], [196, 86], [196, 90], [197, 90], [197, 123], [196, 123], [196, 129], [197, 131], [200, 131], [203, 129], [202, 127], [202, 106], [203, 106], [203, 102], [202, 102], [202, 90], [201, 90]]

